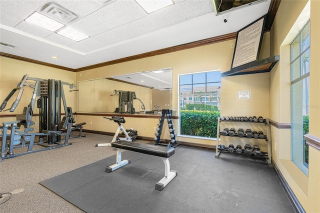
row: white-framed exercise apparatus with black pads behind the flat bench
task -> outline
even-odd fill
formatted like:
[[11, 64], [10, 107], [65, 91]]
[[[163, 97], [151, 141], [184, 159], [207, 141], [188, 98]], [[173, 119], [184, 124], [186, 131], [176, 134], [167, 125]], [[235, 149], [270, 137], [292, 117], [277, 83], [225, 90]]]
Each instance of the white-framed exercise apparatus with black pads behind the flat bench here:
[[[133, 130], [132, 128], [125, 129], [123, 127], [123, 125], [121, 124], [121, 123], [125, 123], [124, 117], [112, 116], [111, 118], [108, 118], [108, 117], [104, 117], [104, 118], [109, 119], [109, 120], [113, 120], [114, 122], [116, 122], [119, 125], [118, 128], [116, 129], [116, 132], [112, 138], [111, 143], [114, 141], [119, 141], [119, 140], [134, 141], [135, 138], [137, 137], [138, 134], [137, 134], [136, 130]], [[122, 131], [122, 134], [124, 134], [125, 137], [118, 137], [120, 131]], [[98, 143], [95, 146], [110, 146], [111, 143]]]

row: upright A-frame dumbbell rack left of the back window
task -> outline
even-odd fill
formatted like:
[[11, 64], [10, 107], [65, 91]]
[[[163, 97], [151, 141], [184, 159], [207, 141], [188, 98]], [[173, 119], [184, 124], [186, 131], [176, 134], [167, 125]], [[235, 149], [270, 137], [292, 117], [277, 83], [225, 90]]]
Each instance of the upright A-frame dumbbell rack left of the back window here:
[[179, 144], [177, 144], [176, 142], [176, 138], [175, 138], [175, 133], [174, 130], [175, 128], [173, 128], [173, 123], [172, 123], [172, 118], [171, 118], [171, 114], [172, 114], [172, 110], [171, 109], [162, 109], [162, 114], [161, 117], [159, 118], [159, 122], [158, 122], [158, 127], [156, 128], [157, 131], [154, 133], [155, 137], [155, 145], [168, 145], [168, 144], [162, 144], [160, 141], [160, 136], [161, 136], [161, 132], [162, 132], [162, 128], [163, 128], [163, 123], [166, 117], [167, 123], [168, 123], [168, 127], [169, 127], [169, 132], [170, 132], [170, 137], [171, 140], [169, 142], [171, 147], [176, 147]]

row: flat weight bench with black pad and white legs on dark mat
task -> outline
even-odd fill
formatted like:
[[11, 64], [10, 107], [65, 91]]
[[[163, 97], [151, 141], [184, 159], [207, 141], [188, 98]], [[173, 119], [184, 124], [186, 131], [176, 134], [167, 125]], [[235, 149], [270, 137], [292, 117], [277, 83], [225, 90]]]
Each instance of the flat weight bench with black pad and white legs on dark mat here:
[[123, 149], [129, 151], [140, 152], [144, 154], [150, 154], [154, 156], [161, 157], [164, 162], [164, 177], [155, 183], [155, 189], [161, 191], [166, 184], [168, 184], [173, 177], [177, 175], [177, 172], [174, 170], [170, 171], [170, 163], [169, 157], [174, 154], [174, 148], [169, 148], [166, 146], [160, 145], [152, 145], [152, 144], [145, 144], [145, 143], [137, 143], [127, 140], [120, 140], [111, 143], [112, 147], [117, 148], [116, 151], [116, 163], [105, 168], [105, 172], [109, 173], [123, 165], [130, 163], [130, 160], [121, 159], [121, 152]]

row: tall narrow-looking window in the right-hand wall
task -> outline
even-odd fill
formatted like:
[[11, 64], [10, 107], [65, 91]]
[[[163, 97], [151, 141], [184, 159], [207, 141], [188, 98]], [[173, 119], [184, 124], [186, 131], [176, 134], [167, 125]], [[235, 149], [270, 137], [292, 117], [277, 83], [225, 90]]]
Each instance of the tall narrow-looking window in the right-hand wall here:
[[291, 43], [291, 160], [308, 175], [310, 22]]

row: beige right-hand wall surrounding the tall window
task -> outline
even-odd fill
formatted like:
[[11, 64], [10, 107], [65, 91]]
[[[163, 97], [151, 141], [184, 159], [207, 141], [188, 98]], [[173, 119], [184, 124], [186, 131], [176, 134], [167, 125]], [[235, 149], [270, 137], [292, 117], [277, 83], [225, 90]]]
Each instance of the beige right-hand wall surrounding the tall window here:
[[[309, 133], [320, 137], [320, 1], [282, 0], [270, 32], [271, 54], [280, 60], [270, 72], [270, 119], [290, 123], [290, 42], [308, 20], [310, 11], [310, 111]], [[304, 7], [306, 13], [304, 12]], [[311, 9], [310, 9], [311, 8]], [[300, 15], [300, 13], [302, 14]], [[284, 24], [285, 21], [285, 24]], [[309, 168], [305, 175], [291, 161], [291, 131], [271, 126], [272, 159], [306, 212], [320, 212], [320, 151], [309, 146]]]

